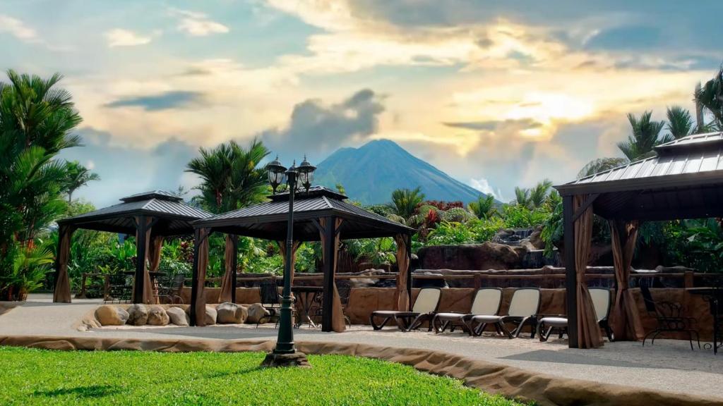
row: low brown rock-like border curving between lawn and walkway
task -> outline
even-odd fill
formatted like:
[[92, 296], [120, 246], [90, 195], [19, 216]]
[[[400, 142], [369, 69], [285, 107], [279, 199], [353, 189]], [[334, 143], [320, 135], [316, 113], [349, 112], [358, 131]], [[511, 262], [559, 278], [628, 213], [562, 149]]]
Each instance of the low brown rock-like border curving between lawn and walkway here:
[[[0, 345], [48, 350], [145, 350], [164, 352], [243, 352], [273, 349], [271, 340], [161, 340], [101, 337], [7, 336]], [[539, 405], [722, 406], [723, 399], [674, 394], [581, 379], [533, 373], [513, 366], [470, 360], [461, 355], [415, 348], [380, 347], [338, 342], [296, 342], [307, 354], [353, 355], [412, 366], [419, 371], [461, 379], [468, 386]], [[424, 394], [419, 394], [423, 397]]]

